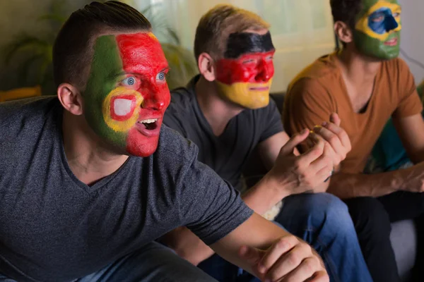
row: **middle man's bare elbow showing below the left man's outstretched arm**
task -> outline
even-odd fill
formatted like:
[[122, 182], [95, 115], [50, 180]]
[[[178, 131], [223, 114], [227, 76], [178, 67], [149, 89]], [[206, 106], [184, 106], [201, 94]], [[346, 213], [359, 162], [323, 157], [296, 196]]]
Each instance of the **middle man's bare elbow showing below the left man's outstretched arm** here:
[[176, 228], [163, 236], [161, 241], [195, 266], [215, 253], [187, 227]]

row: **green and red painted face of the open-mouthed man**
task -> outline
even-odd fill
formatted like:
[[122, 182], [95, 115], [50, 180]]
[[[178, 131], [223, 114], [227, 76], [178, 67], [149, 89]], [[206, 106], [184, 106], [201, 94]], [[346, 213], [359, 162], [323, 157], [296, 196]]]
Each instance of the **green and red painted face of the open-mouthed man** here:
[[127, 154], [153, 154], [170, 104], [167, 68], [151, 32], [99, 37], [83, 96], [90, 127]]

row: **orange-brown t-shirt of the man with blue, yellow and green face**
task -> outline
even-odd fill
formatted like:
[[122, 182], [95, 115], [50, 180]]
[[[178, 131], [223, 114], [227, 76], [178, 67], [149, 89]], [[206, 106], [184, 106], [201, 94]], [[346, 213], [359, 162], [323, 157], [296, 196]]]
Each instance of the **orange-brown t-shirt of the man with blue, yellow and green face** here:
[[403, 60], [393, 59], [382, 63], [366, 111], [355, 113], [336, 64], [336, 54], [330, 54], [312, 63], [290, 82], [283, 123], [292, 135], [329, 121], [330, 114], [336, 112], [352, 145], [341, 163], [341, 171], [361, 173], [390, 116], [403, 118], [422, 110], [411, 71]]

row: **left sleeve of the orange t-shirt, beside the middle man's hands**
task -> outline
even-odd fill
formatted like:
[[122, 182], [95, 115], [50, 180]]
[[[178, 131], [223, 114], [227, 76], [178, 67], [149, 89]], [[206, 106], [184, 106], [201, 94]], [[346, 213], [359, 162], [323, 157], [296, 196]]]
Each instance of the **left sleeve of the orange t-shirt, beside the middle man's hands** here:
[[[328, 121], [336, 111], [334, 99], [319, 82], [302, 78], [289, 87], [285, 97], [283, 124], [289, 136]], [[300, 146], [305, 152], [306, 145]]]

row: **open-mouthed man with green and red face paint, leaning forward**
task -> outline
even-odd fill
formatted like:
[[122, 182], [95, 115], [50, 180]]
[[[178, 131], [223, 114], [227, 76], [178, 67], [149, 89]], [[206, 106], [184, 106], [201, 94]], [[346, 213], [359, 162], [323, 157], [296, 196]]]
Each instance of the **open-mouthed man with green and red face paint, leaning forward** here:
[[0, 281], [215, 281], [155, 243], [178, 226], [262, 280], [328, 281], [307, 243], [161, 126], [167, 61], [141, 13], [118, 1], [74, 12], [53, 68], [57, 97], [0, 104]]

